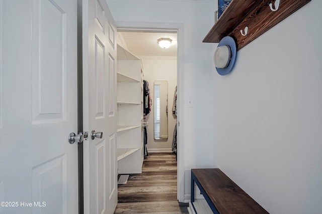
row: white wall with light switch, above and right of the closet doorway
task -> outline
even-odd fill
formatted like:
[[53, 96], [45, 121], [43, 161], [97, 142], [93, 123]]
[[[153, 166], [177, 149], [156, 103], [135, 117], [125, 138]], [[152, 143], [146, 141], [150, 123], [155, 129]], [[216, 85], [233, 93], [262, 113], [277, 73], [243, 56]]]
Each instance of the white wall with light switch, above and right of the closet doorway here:
[[[178, 32], [178, 81], [181, 83], [178, 149], [179, 159], [183, 159], [178, 169], [178, 192], [179, 200], [183, 201], [184, 193], [190, 193], [191, 168], [213, 166], [211, 68], [214, 46], [202, 43], [202, 40], [213, 26], [214, 2], [107, 0], [107, 3], [116, 22], [183, 26]], [[193, 107], [187, 107], [189, 99]], [[182, 171], [185, 177], [181, 175]]]

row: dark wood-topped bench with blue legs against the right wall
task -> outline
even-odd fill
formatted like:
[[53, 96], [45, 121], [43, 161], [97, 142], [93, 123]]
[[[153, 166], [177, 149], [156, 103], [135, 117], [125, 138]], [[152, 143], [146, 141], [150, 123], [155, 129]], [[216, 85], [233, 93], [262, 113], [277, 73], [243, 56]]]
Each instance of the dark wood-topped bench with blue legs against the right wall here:
[[194, 211], [195, 185], [213, 213], [268, 213], [220, 169], [191, 169], [191, 204]]

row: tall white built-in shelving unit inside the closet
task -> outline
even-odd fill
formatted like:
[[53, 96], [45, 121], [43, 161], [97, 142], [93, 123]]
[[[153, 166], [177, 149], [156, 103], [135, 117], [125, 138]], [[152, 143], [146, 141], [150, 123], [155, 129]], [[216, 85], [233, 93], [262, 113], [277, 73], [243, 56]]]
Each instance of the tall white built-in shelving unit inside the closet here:
[[143, 67], [117, 45], [117, 162], [119, 174], [141, 173], [143, 163]]

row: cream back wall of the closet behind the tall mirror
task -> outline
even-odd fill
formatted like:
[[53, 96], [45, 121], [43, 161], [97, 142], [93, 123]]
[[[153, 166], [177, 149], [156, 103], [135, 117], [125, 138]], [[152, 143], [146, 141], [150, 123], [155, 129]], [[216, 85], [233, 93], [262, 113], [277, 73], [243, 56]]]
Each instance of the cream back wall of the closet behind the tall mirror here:
[[[142, 59], [144, 68], [144, 80], [148, 81], [150, 94], [152, 98], [151, 112], [147, 115], [146, 121], [149, 122], [147, 131], [147, 149], [148, 151], [171, 151], [173, 131], [177, 122], [177, 116], [172, 114], [174, 91], [177, 86], [177, 58], [176, 57], [149, 57], [138, 56]], [[153, 82], [155, 80], [168, 81], [168, 139], [155, 140], [153, 131], [154, 114], [154, 90]]]

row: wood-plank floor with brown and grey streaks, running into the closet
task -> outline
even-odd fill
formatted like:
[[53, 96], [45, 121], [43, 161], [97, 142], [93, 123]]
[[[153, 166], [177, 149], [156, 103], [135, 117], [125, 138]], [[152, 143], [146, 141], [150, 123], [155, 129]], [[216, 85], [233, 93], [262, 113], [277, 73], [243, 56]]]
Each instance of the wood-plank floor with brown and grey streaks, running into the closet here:
[[188, 213], [177, 200], [177, 161], [173, 153], [150, 153], [141, 174], [118, 185], [114, 213]]

